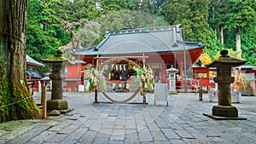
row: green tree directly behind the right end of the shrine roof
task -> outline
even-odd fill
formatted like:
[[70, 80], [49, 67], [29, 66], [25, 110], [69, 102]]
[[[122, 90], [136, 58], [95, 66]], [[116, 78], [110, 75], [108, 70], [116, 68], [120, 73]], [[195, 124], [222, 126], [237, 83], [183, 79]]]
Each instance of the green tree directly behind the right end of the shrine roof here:
[[206, 44], [204, 52], [213, 58], [221, 48], [207, 23], [209, 4], [209, 0], [166, 0], [161, 5], [159, 14], [164, 15], [170, 25], [180, 25], [183, 30], [183, 40], [200, 41]]

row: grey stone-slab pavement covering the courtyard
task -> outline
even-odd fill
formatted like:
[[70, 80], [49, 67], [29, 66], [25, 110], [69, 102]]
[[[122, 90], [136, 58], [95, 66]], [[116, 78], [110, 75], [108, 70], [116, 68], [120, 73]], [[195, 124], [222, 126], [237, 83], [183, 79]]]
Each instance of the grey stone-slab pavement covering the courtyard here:
[[[108, 93], [124, 99], [129, 93]], [[39, 95], [34, 95], [36, 102]], [[131, 95], [131, 93], [130, 93]], [[247, 120], [213, 120], [214, 102], [207, 95], [169, 95], [166, 103], [148, 105], [94, 103], [93, 93], [64, 93], [74, 110], [47, 119], [11, 121], [0, 124], [0, 143], [255, 143], [256, 96], [242, 96], [234, 103], [239, 116]], [[49, 99], [49, 93], [48, 93]], [[107, 101], [99, 94], [99, 101]], [[136, 97], [132, 101], [141, 101]]]

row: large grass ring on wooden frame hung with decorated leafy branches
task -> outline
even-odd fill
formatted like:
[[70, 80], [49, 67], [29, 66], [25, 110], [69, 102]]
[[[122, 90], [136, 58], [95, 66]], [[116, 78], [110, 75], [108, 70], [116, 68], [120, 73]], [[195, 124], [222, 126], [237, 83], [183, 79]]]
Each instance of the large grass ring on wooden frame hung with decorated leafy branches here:
[[[153, 72], [149, 66], [145, 65], [145, 59], [148, 56], [137, 56], [137, 60], [134, 60], [135, 56], [119, 56], [119, 57], [96, 57], [96, 70], [98, 71], [98, 79], [102, 75], [105, 78], [105, 84], [114, 84], [114, 83], [125, 83], [137, 84], [137, 89], [134, 92], [127, 93], [131, 94], [129, 97], [126, 97], [124, 100], [115, 100], [112, 96], [115, 92], [109, 94], [106, 89], [100, 88], [99, 84], [96, 84], [95, 89], [95, 102], [98, 101], [98, 95], [104, 96], [108, 101], [112, 103], [143, 103], [146, 102], [146, 93], [145, 89], [153, 90], [154, 85], [154, 76]], [[141, 60], [140, 60], [141, 59]], [[100, 61], [102, 60], [102, 61]], [[99, 64], [99, 62], [101, 62]], [[102, 83], [102, 82], [101, 82]], [[106, 86], [106, 85], [105, 85]], [[109, 86], [109, 85], [108, 85]], [[117, 85], [117, 88], [119, 86]], [[126, 89], [126, 87], [125, 87]], [[118, 94], [118, 93], [115, 93]], [[142, 95], [143, 101], [131, 102], [131, 100], [136, 96]]]

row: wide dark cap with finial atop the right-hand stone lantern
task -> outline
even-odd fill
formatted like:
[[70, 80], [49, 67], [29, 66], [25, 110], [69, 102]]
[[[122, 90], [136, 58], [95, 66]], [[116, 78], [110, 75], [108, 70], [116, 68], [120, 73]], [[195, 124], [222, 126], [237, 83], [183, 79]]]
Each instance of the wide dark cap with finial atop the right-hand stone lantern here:
[[212, 63], [207, 64], [208, 67], [217, 67], [217, 66], [230, 66], [236, 67], [241, 66], [247, 62], [247, 60], [236, 59], [234, 57], [230, 57], [229, 51], [224, 49], [221, 50], [218, 60], [213, 60]]

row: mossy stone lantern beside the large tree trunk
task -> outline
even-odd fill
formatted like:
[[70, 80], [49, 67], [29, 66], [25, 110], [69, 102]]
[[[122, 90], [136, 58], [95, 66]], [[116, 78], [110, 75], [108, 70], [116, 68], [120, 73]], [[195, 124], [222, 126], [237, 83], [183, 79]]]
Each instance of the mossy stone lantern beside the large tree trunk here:
[[55, 57], [42, 59], [42, 61], [52, 67], [49, 75], [52, 81], [51, 100], [47, 101], [47, 110], [66, 110], [67, 101], [62, 99], [64, 70], [65, 66], [72, 66], [74, 63], [67, 60], [61, 50], [57, 50]]

